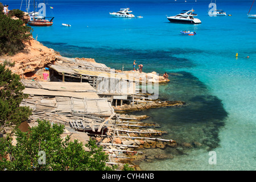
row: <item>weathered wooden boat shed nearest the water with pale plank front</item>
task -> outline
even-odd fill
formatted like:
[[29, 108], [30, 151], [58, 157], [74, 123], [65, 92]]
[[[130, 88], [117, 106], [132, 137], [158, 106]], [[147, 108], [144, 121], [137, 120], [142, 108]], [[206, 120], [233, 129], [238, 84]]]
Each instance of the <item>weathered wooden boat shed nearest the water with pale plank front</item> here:
[[122, 105], [123, 100], [133, 101], [137, 94], [137, 77], [115, 72], [105, 64], [56, 56], [55, 64], [49, 65], [49, 68], [51, 81], [88, 82], [99, 96], [108, 98], [111, 104]]

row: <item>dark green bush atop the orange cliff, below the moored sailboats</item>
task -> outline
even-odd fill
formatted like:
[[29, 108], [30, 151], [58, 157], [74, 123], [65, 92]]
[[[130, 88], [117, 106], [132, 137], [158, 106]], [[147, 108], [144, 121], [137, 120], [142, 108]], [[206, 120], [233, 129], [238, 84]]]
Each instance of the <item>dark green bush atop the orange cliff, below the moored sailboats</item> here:
[[22, 20], [14, 20], [0, 14], [0, 55], [13, 55], [24, 49], [24, 42], [31, 39], [32, 28], [24, 26]]

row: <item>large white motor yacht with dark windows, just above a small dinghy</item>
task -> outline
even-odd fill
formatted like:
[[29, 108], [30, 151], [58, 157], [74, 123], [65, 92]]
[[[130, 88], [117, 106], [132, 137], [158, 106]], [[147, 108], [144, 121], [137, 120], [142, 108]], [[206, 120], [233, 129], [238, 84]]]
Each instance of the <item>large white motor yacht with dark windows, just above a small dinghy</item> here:
[[188, 24], [199, 24], [202, 23], [200, 19], [194, 18], [197, 14], [193, 14], [194, 10], [183, 10], [176, 16], [169, 16], [167, 19], [171, 23], [188, 23]]

